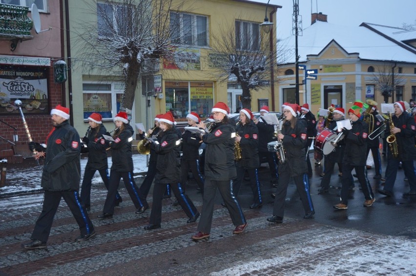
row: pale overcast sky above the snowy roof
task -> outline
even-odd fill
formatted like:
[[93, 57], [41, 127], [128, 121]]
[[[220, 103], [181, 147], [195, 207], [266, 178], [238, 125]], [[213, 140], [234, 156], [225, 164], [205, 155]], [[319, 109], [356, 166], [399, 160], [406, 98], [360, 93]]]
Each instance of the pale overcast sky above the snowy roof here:
[[[312, 13], [326, 14], [328, 22], [337, 25], [358, 26], [367, 22], [401, 27], [402, 23], [414, 24], [416, 20], [416, 0], [299, 0], [303, 28], [311, 25], [311, 3]], [[293, 0], [270, 0], [270, 4], [283, 6], [277, 10], [277, 37], [290, 36]]]

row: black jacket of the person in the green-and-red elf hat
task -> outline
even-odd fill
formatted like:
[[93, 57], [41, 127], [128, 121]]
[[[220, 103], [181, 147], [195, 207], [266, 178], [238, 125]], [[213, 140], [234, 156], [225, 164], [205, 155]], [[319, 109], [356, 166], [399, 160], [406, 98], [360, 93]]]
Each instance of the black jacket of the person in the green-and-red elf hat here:
[[352, 125], [353, 128], [344, 138], [346, 145], [342, 163], [352, 166], [365, 166], [367, 162], [368, 124], [358, 119]]

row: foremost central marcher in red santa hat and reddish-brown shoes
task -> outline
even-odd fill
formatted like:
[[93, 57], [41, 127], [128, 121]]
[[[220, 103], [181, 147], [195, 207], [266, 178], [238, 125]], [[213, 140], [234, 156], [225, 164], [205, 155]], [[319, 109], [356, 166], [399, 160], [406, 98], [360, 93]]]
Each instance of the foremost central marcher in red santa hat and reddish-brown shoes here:
[[[202, 136], [202, 140], [207, 144], [204, 201], [198, 233], [191, 237], [193, 240], [205, 239], [210, 235], [217, 189], [223, 197], [232, 223], [236, 226], [232, 234], [241, 234], [247, 227], [246, 218], [232, 187], [232, 179], [237, 177], [237, 173], [234, 162], [235, 129], [227, 117], [229, 107], [224, 102], [217, 102], [211, 112], [216, 123], [209, 133]], [[203, 123], [198, 124], [198, 127], [205, 128]]]

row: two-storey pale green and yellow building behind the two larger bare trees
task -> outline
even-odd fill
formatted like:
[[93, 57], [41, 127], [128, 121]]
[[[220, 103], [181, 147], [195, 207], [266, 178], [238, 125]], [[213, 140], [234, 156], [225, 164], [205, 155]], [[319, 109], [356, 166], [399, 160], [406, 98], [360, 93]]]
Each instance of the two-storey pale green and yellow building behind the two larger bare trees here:
[[[100, 19], [97, 15], [80, 11], [83, 0], [68, 1], [70, 29], [79, 29], [79, 22]], [[281, 6], [268, 5], [268, 18], [276, 22], [276, 11]], [[174, 62], [160, 60], [159, 72], [142, 78], [136, 89], [135, 102], [131, 114], [131, 124], [144, 123], [153, 125], [156, 114], [172, 111], [176, 120], [186, 122], [186, 115], [193, 111], [205, 118], [217, 101], [229, 104], [231, 111], [238, 107], [238, 97], [242, 90], [232, 79], [221, 81], [212, 74], [213, 69], [208, 65], [208, 55], [215, 45], [215, 39], [220, 37], [221, 26], [235, 25], [239, 29], [236, 40], [249, 41], [252, 45], [255, 39], [271, 39], [276, 45], [276, 25], [270, 34], [260, 32], [259, 24], [264, 21], [265, 3], [249, 0], [198, 0], [184, 1], [181, 10], [172, 11], [172, 22], [179, 22], [181, 34], [178, 34], [177, 52]], [[178, 17], [174, 20], [172, 17]], [[99, 22], [97, 23], [99, 24]], [[80, 56], [83, 48], [77, 46], [76, 36], [71, 36], [71, 56]], [[236, 41], [238, 43], [238, 41]], [[249, 46], [250, 47], [250, 46]], [[250, 50], [250, 49], [247, 49]], [[275, 51], [275, 49], [271, 49]], [[75, 58], [74, 58], [75, 59]], [[106, 128], [113, 129], [112, 119], [118, 112], [124, 89], [124, 84], [118, 76], [103, 76], [100, 70], [87, 71], [87, 68], [77, 68], [76, 60], [71, 75], [72, 108], [74, 126], [83, 134], [87, 128], [87, 117], [91, 112], [102, 112]], [[79, 64], [78, 64], [79, 65]], [[154, 75], [154, 76], [153, 76]], [[273, 79], [270, 72], [270, 80]], [[269, 81], [270, 84], [273, 81]], [[155, 86], [153, 90], [153, 84]], [[146, 112], [146, 88], [154, 96], [148, 97], [150, 107]], [[272, 85], [252, 93], [252, 109], [259, 110], [259, 104], [274, 102]], [[71, 99], [70, 99], [71, 100]], [[147, 118], [147, 125], [146, 125]], [[111, 123], [110, 123], [111, 122]]]

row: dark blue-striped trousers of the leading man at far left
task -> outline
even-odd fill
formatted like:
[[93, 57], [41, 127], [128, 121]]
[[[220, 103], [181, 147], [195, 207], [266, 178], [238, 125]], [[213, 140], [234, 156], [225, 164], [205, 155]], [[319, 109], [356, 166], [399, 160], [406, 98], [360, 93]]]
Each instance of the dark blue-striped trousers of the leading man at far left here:
[[77, 191], [45, 191], [42, 213], [35, 224], [31, 239], [47, 242], [51, 232], [53, 217], [58, 210], [61, 198], [65, 200], [80, 227], [81, 235], [89, 235], [94, 231], [94, 226], [81, 205]]

